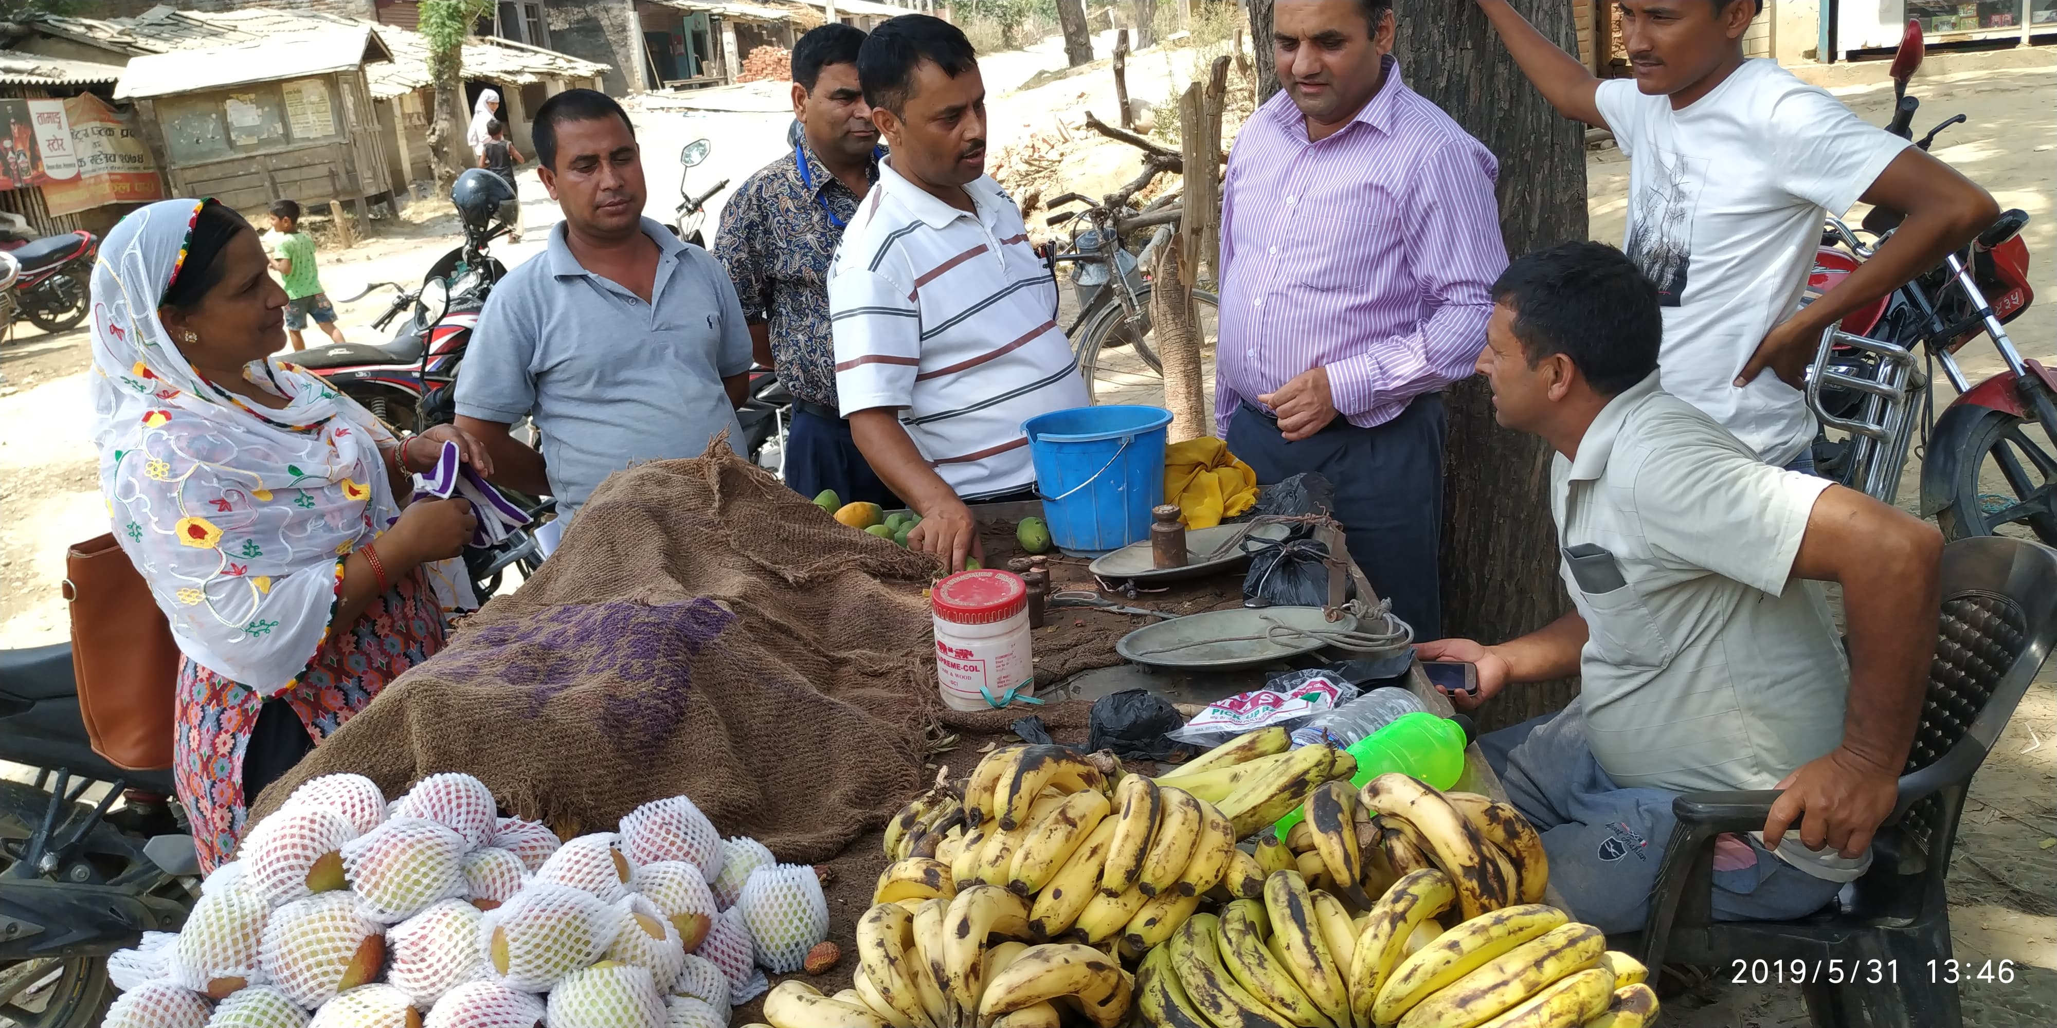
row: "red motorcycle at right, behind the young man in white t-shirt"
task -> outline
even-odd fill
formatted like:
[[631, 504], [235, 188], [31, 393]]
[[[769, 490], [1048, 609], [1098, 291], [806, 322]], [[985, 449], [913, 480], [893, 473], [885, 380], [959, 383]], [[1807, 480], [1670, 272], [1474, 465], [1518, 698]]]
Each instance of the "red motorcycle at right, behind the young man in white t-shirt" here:
[[[1892, 58], [1894, 113], [1886, 132], [1913, 140], [1919, 101], [1907, 80], [1921, 66], [1921, 23], [1909, 21]], [[1915, 142], [1964, 121], [1952, 115]], [[1833, 290], [1876, 253], [1905, 216], [1886, 208], [1860, 228], [1829, 218], [1802, 304]], [[1946, 539], [2028, 530], [2057, 545], [2057, 370], [2022, 358], [2008, 337], [2034, 300], [2028, 288], [2028, 214], [2008, 210], [1962, 251], [1831, 325], [1808, 368], [1806, 399], [1820, 419], [1814, 465], [1825, 477], [1894, 502], [1901, 467], [1919, 428], [1923, 442], [1919, 514]], [[1971, 384], [1956, 354], [1989, 337], [2006, 370]], [[1956, 391], [1938, 417], [1934, 370]], [[2034, 436], [2041, 428], [2041, 440]], [[1831, 438], [1837, 430], [1841, 438]]]

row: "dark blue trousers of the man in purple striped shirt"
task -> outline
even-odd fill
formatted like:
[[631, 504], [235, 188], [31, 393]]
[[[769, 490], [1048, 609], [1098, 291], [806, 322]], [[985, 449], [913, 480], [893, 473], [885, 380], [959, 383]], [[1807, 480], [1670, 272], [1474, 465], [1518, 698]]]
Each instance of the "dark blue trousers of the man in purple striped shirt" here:
[[1436, 545], [1442, 528], [1442, 397], [1415, 397], [1399, 417], [1358, 428], [1343, 417], [1286, 442], [1277, 421], [1251, 405], [1228, 421], [1228, 452], [1269, 485], [1319, 471], [1335, 485], [1343, 543], [1415, 639], [1442, 637]]

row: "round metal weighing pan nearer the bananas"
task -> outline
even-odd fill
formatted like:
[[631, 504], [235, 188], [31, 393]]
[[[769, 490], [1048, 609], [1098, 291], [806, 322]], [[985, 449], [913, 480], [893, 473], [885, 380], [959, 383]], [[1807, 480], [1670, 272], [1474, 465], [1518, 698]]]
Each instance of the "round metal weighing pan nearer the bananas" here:
[[[1356, 631], [1356, 615], [1329, 621], [1321, 607], [1238, 607], [1144, 625], [1115, 644], [1115, 652], [1156, 668], [1234, 670], [1273, 664], [1329, 646], [1325, 637]], [[1265, 633], [1271, 631], [1271, 637]]]

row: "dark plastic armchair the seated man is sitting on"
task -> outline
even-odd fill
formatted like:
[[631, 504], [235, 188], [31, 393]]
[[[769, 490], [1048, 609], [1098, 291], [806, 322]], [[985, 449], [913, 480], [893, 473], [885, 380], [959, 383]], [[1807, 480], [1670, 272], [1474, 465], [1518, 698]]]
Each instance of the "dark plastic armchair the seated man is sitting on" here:
[[1794, 968], [1806, 972], [1800, 987], [1816, 1026], [1962, 1026], [1956, 985], [1934, 981], [1944, 972], [1929, 966], [1950, 960], [1944, 876], [1956, 818], [1971, 775], [2053, 644], [2057, 551], [2006, 537], [1944, 547], [1927, 699], [1899, 804], [1872, 843], [1872, 868], [1843, 886], [1837, 903], [1798, 921], [1716, 921], [1713, 839], [1763, 829], [1779, 794], [1681, 796], [1650, 919], [1639, 938], [1617, 938], [1615, 946], [1639, 948], [1652, 968], [1672, 960], [1718, 966], [1718, 977], [1730, 975], [1734, 960], [1788, 960], [1777, 981], [1794, 981]]

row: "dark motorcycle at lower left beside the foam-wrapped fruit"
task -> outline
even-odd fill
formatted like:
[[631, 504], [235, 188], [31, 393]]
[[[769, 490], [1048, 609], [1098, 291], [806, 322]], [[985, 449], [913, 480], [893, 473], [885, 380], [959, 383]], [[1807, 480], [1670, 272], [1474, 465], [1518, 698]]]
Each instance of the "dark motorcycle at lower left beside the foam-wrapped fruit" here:
[[115, 995], [107, 956], [177, 931], [200, 901], [185, 810], [169, 769], [93, 752], [68, 644], [0, 650], [0, 761], [35, 769], [0, 779], [0, 1018], [95, 1028]]

